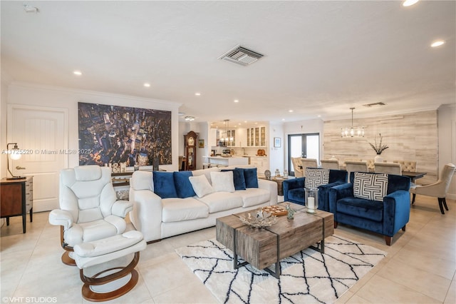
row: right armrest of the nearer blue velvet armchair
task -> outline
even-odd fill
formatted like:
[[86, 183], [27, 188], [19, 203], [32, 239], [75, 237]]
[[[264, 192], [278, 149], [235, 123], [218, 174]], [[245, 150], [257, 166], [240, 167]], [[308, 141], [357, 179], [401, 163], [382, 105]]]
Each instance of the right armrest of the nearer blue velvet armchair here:
[[410, 193], [398, 190], [383, 198], [383, 235], [393, 236], [410, 219]]

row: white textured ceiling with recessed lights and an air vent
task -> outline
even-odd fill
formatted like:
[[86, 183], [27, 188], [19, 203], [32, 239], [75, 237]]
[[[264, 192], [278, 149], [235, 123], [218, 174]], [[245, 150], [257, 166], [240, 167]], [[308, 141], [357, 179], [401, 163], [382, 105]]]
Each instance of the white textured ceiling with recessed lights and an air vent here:
[[[1, 1], [1, 69], [14, 81], [175, 101], [197, 122], [427, 110], [455, 103], [455, 4]], [[446, 44], [432, 49], [435, 39]], [[237, 44], [264, 58], [218, 59]]]

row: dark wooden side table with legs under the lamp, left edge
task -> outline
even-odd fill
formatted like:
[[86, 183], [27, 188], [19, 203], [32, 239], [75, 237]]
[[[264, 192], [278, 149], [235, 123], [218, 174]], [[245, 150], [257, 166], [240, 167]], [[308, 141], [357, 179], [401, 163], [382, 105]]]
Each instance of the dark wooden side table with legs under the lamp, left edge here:
[[11, 216], [22, 216], [22, 231], [26, 233], [27, 213], [33, 221], [33, 176], [18, 179], [3, 178], [0, 183], [0, 216], [9, 226]]

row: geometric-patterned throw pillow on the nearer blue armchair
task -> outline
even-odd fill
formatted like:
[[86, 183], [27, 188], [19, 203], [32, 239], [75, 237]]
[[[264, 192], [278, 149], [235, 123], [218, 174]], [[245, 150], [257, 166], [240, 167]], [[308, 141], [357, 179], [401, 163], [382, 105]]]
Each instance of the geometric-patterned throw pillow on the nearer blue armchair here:
[[388, 191], [388, 174], [355, 172], [353, 194], [356, 198], [383, 201], [386, 191]]

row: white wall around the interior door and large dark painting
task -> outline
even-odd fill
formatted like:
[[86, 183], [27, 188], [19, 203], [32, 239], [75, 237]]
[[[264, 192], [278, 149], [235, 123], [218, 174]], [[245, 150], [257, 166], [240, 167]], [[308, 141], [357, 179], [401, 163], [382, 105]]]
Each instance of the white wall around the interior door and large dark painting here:
[[[3, 86], [2, 86], [2, 108], [3, 108]], [[68, 149], [78, 149], [78, 102], [100, 103], [113, 106], [133, 106], [136, 108], [152, 108], [157, 110], [171, 111], [172, 119], [172, 165], [163, 165], [160, 168], [174, 171], [178, 168], [178, 108], [180, 103], [160, 101], [151, 98], [140, 98], [134, 96], [122, 96], [111, 93], [75, 90], [71, 88], [60, 88], [52, 86], [38, 86], [31, 83], [12, 83], [8, 87], [8, 103], [23, 104], [31, 106], [66, 108], [68, 109]], [[2, 135], [3, 123], [7, 121], [6, 114], [2, 111]], [[5, 116], [4, 116], [5, 115]], [[6, 117], [6, 119], [4, 119]], [[2, 159], [2, 163], [3, 163]], [[71, 155], [68, 166], [78, 166], [78, 155]], [[3, 171], [2, 171], [3, 173]], [[3, 175], [4, 176], [4, 175]]]

